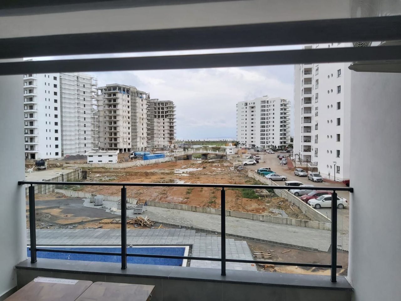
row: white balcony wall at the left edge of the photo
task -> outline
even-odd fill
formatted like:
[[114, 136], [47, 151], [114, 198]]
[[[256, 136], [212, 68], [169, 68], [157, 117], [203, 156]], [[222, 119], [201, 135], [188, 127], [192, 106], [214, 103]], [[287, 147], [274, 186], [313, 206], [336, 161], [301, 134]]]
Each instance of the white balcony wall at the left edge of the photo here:
[[16, 286], [14, 265], [26, 258], [25, 187], [17, 184], [25, 179], [21, 86], [22, 75], [0, 77], [0, 299]]

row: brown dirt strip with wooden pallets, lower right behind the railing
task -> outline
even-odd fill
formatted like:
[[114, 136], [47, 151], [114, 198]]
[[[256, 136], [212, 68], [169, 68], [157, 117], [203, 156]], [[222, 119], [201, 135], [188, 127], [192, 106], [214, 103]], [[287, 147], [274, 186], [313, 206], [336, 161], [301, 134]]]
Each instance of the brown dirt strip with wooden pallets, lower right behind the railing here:
[[[289, 248], [287, 246], [266, 244], [264, 242], [255, 242], [253, 240], [246, 240], [246, 242], [249, 248], [251, 249], [251, 252], [270, 251], [271, 261], [330, 264], [330, 252], [321, 252], [321, 251], [315, 252], [308, 250], [300, 250], [296, 248]], [[255, 260], [259, 260], [259, 258], [255, 258]], [[269, 262], [266, 261], [266, 264], [269, 264]], [[337, 275], [346, 275], [348, 270], [348, 252], [343, 250], [337, 250], [337, 264], [342, 265], [342, 268], [337, 269]], [[270, 272], [274, 272], [275, 270], [276, 272], [279, 273], [330, 275], [329, 268], [316, 268], [308, 266], [284, 266], [284, 265], [283, 266], [276, 265], [274, 268], [264, 268], [264, 266], [259, 264], [257, 264], [256, 266], [258, 270], [266, 270]]]

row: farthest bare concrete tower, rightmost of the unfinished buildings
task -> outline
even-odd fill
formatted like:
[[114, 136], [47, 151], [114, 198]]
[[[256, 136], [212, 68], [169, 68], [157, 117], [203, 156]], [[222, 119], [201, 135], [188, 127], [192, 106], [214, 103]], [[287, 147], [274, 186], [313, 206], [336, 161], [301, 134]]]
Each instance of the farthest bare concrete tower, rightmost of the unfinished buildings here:
[[175, 105], [172, 101], [151, 99], [148, 105], [148, 145], [173, 148], [175, 141]]

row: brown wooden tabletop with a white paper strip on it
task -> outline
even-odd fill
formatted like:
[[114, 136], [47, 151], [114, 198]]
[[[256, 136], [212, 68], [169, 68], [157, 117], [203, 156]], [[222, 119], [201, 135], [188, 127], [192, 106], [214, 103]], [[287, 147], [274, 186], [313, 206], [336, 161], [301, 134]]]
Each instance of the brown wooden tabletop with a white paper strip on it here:
[[92, 281], [36, 277], [5, 301], [75, 301]]

